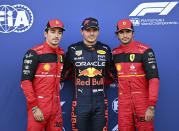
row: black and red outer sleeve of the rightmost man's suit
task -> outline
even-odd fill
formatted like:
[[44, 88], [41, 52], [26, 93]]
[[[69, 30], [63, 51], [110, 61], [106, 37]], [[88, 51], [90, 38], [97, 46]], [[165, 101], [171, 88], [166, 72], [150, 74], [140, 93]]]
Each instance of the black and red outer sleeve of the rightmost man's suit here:
[[143, 68], [149, 81], [149, 105], [155, 106], [158, 99], [159, 75], [153, 50], [147, 49], [143, 54]]

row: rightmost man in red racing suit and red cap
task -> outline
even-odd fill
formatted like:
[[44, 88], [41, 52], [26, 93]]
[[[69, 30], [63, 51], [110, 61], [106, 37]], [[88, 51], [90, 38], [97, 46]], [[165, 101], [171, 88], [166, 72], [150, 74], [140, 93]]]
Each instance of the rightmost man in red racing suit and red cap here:
[[133, 40], [131, 21], [117, 24], [121, 44], [113, 50], [118, 72], [118, 130], [153, 131], [159, 76], [153, 50]]

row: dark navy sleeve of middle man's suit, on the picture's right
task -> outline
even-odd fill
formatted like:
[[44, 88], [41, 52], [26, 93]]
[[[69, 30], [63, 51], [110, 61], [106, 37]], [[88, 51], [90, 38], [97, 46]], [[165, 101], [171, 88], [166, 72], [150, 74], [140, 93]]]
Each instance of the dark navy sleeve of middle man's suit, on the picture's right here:
[[115, 68], [114, 61], [112, 60], [112, 53], [111, 49], [108, 47], [108, 59], [106, 61], [105, 66], [105, 84], [109, 85], [113, 83], [114, 81], [117, 81], [117, 71]]

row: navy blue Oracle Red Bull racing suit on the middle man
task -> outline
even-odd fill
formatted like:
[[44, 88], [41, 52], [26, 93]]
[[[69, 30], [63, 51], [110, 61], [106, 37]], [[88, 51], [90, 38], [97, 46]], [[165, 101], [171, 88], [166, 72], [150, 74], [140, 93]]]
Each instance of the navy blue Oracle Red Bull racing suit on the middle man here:
[[64, 78], [70, 74], [75, 87], [71, 122], [73, 131], [106, 131], [108, 101], [104, 91], [105, 77], [112, 77], [110, 48], [97, 42], [88, 47], [83, 42], [72, 44], [65, 57]]

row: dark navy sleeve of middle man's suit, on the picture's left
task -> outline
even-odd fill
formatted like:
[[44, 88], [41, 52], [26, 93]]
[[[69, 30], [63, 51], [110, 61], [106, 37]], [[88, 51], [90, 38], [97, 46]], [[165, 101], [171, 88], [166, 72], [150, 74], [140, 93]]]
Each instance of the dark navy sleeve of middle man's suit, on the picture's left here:
[[71, 60], [71, 48], [69, 47], [65, 55], [60, 81], [72, 79], [72, 70], [73, 70], [73, 63]]

